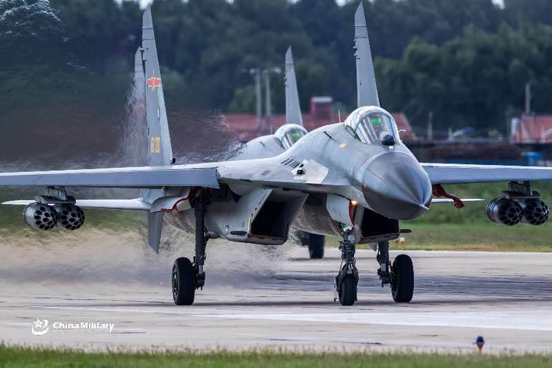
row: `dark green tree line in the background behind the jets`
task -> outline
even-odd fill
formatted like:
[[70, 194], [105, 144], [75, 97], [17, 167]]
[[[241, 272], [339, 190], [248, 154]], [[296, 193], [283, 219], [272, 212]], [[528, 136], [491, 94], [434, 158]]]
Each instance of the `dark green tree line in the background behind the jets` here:
[[[357, 5], [155, 0], [169, 108], [253, 112], [253, 78], [245, 71], [283, 66], [292, 46], [302, 108], [308, 110], [312, 95], [331, 95], [342, 110], [352, 110]], [[382, 107], [404, 111], [413, 124], [424, 125], [431, 112], [435, 128], [503, 130], [522, 109], [528, 82], [534, 110], [551, 110], [551, 1], [504, 0], [497, 6], [491, 0], [373, 0], [364, 8]], [[136, 1], [3, 0], [0, 92], [14, 84], [14, 75], [32, 78], [52, 68], [106, 75], [123, 60], [130, 75], [140, 36]], [[282, 112], [282, 77], [273, 79], [274, 108]]]

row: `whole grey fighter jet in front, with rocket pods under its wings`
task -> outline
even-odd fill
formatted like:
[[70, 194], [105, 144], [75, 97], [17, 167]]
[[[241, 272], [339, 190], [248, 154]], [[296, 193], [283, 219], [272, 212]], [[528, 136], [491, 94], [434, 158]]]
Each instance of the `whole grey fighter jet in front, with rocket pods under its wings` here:
[[[462, 200], [446, 184], [509, 182], [491, 200], [487, 215], [509, 226], [540, 225], [549, 209], [531, 182], [552, 180], [552, 168], [424, 164], [401, 141], [391, 114], [380, 107], [364, 8], [355, 14], [358, 108], [345, 122], [317, 128], [274, 156], [228, 162], [177, 165], [172, 146], [150, 8], [144, 13], [141, 58], [144, 67], [149, 164], [146, 167], [1, 173], [1, 186], [40, 186], [42, 195], [25, 205], [23, 217], [34, 229], [78, 229], [83, 209], [126, 209], [148, 213], [148, 242], [159, 251], [164, 218], [195, 233], [193, 260], [172, 267], [175, 304], [193, 304], [206, 283], [206, 244], [231, 242], [280, 245], [290, 226], [308, 233], [337, 235], [342, 264], [335, 293], [342, 305], [357, 300], [357, 244], [377, 244], [377, 275], [391, 286], [395, 302], [410, 302], [413, 263], [408, 255], [389, 258], [400, 221], [424, 215], [432, 204]], [[135, 200], [81, 200], [74, 187], [141, 188]], [[444, 197], [444, 198], [440, 198]], [[465, 202], [466, 200], [464, 200]], [[250, 259], [253, 265], [255, 259]]]

